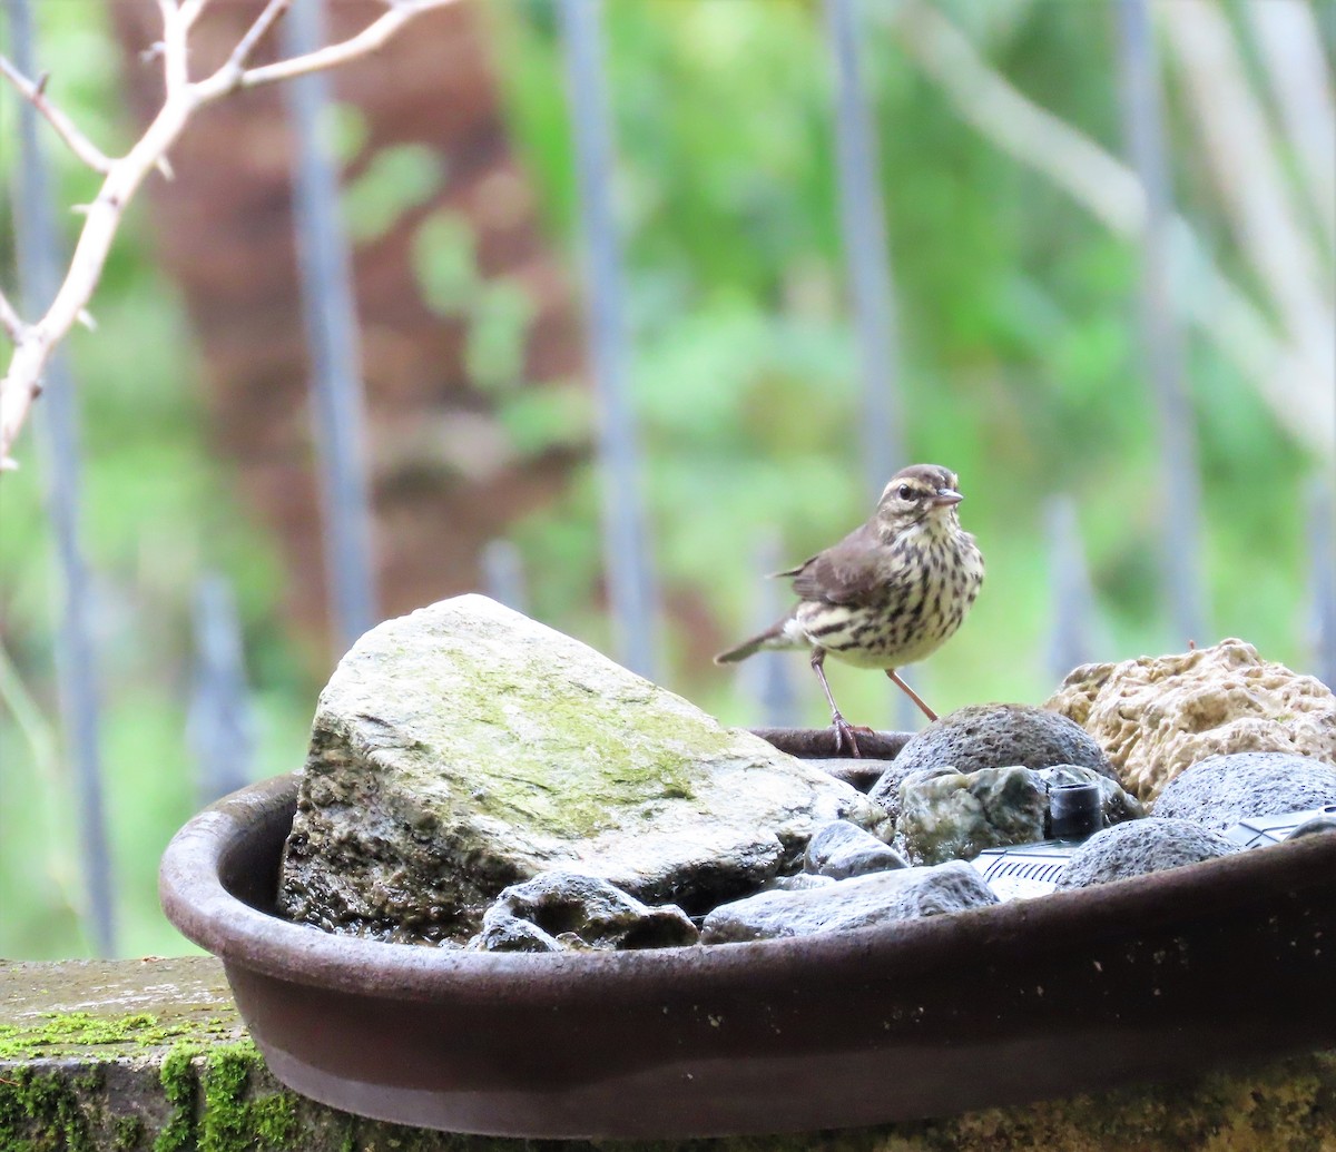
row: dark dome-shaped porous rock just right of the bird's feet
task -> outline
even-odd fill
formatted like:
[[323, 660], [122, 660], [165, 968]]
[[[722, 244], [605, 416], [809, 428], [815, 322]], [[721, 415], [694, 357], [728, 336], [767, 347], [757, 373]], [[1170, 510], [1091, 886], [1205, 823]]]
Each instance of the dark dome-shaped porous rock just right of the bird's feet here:
[[1100, 744], [1066, 716], [1027, 704], [975, 704], [939, 716], [918, 732], [868, 795], [894, 814], [900, 782], [923, 768], [961, 772], [1021, 764], [1079, 764], [1116, 780]]

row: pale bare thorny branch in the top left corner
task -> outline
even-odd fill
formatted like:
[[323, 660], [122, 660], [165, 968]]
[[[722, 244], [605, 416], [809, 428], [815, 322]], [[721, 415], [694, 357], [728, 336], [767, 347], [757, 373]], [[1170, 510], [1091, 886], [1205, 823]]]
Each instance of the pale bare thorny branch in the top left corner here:
[[123, 156], [107, 156], [98, 150], [47, 99], [43, 83], [32, 83], [0, 56], [0, 74], [45, 116], [69, 150], [104, 178], [96, 198], [86, 207], [83, 230], [69, 269], [45, 314], [33, 323], [24, 323], [0, 294], [0, 327], [13, 341], [8, 372], [0, 380], [0, 470], [16, 466], [9, 453], [32, 402], [41, 392], [41, 374], [56, 345], [75, 323], [87, 317], [88, 301], [102, 278], [126, 206], [154, 168], [170, 176], [167, 152], [191, 118], [206, 104], [239, 88], [290, 80], [366, 56], [382, 47], [414, 16], [444, 8], [454, 0], [383, 0], [385, 11], [355, 36], [289, 60], [247, 68], [246, 61], [255, 45], [293, 3], [270, 0], [238, 40], [227, 61], [210, 76], [192, 82], [187, 59], [190, 32], [208, 3], [210, 0], [158, 0], [163, 37], [154, 45], [152, 57], [163, 61], [167, 95], [143, 136]]

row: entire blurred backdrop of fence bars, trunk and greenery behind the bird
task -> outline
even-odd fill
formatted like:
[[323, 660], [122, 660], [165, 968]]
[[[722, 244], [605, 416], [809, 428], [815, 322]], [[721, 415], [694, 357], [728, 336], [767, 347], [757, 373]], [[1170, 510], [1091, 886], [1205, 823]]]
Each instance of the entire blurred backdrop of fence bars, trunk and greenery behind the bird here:
[[[127, 150], [158, 7], [27, 8]], [[1331, 0], [462, 0], [204, 110], [0, 478], [0, 956], [187, 950], [171, 834], [301, 766], [351, 636], [464, 591], [728, 723], [827, 723], [804, 655], [711, 655], [912, 461], [989, 565], [907, 674], [937, 711], [1224, 636], [1332, 683], [1333, 55]], [[98, 178], [37, 139], [64, 267]]]

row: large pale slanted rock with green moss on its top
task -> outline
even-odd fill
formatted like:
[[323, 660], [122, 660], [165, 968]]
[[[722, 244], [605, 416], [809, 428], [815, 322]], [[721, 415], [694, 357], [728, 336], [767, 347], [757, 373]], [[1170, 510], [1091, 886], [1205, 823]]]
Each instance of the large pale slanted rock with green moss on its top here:
[[389, 620], [321, 694], [279, 902], [383, 940], [477, 930], [552, 867], [704, 911], [866, 797], [484, 596]]

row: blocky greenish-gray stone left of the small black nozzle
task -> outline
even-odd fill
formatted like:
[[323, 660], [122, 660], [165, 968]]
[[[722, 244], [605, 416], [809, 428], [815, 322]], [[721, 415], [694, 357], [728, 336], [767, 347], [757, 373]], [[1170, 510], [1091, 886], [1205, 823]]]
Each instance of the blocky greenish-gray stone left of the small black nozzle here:
[[912, 865], [974, 859], [983, 849], [1042, 841], [1047, 811], [1047, 788], [1029, 768], [911, 776], [894, 846]]

